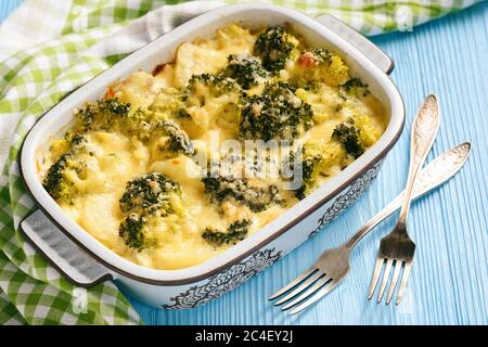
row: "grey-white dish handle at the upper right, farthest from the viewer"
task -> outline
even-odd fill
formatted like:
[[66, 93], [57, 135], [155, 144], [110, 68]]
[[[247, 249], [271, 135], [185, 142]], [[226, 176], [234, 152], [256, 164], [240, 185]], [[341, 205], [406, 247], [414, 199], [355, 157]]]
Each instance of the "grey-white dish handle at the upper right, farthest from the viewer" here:
[[329, 14], [320, 15], [314, 17], [314, 20], [352, 44], [358, 51], [385, 72], [385, 74], [389, 75], [394, 69], [394, 62], [388, 55], [347, 24], [344, 24]]

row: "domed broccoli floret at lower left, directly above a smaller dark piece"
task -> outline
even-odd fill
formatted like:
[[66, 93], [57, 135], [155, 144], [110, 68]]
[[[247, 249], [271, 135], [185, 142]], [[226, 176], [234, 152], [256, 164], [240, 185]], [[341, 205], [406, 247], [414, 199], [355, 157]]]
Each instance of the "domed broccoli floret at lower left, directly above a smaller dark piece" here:
[[179, 210], [180, 201], [180, 184], [163, 174], [154, 172], [130, 180], [119, 200], [119, 206], [124, 214], [165, 217]]

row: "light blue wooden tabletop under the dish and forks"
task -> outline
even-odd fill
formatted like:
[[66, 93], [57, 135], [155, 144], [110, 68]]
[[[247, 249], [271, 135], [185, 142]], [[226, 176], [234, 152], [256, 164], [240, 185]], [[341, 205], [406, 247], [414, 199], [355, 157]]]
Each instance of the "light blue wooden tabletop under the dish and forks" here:
[[[20, 2], [0, 1], [0, 21]], [[488, 2], [373, 41], [396, 63], [391, 78], [403, 95], [408, 120], [372, 188], [326, 230], [215, 301], [185, 311], [133, 301], [146, 323], [488, 324]], [[342, 285], [303, 314], [283, 314], [266, 297], [402, 190], [410, 121], [431, 92], [439, 98], [442, 124], [427, 160], [463, 141], [472, 142], [473, 153], [452, 181], [411, 209], [409, 227], [418, 250], [407, 297], [398, 307], [367, 300], [380, 239], [393, 228], [391, 217], [358, 246]]]

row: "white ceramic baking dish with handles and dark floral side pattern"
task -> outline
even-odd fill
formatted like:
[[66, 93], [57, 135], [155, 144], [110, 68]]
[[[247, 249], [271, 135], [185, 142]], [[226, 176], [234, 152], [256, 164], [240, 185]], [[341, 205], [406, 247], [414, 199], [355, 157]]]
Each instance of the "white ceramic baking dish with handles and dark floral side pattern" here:
[[[239, 22], [247, 27], [291, 23], [309, 44], [339, 53], [383, 103], [389, 124], [361, 157], [284, 215], [227, 252], [181, 270], [155, 270], [126, 260], [69, 219], [42, 188], [36, 169], [38, 149], [73, 119], [73, 110], [103, 95], [106, 86], [131, 72], [151, 72], [170, 62], [178, 46]], [[388, 78], [391, 61], [372, 42], [331, 16], [311, 18], [270, 4], [219, 8], [179, 26], [100, 74], [49, 111], [30, 130], [22, 149], [22, 175], [39, 210], [22, 223], [25, 236], [70, 281], [80, 286], [116, 283], [143, 303], [167, 309], [192, 308], [235, 288], [301, 244], [348, 207], [376, 177], [404, 121], [400, 94]]]

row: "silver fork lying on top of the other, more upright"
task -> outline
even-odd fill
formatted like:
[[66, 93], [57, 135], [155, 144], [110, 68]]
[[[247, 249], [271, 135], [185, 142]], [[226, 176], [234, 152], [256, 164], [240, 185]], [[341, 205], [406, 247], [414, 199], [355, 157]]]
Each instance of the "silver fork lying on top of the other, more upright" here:
[[377, 301], [380, 303], [383, 298], [389, 273], [393, 269], [394, 273], [388, 294], [386, 295], [386, 305], [391, 300], [402, 268], [403, 274], [400, 287], [398, 288], [396, 304], [400, 304], [403, 297], [404, 288], [410, 277], [410, 270], [412, 268], [413, 255], [415, 254], [415, 243], [409, 237], [407, 232], [407, 216], [410, 209], [415, 178], [434, 143], [437, 130], [439, 129], [439, 120], [437, 99], [435, 95], [431, 94], [425, 99], [413, 120], [410, 138], [410, 169], [407, 179], [406, 193], [401, 203], [400, 216], [398, 217], [394, 230], [381, 241], [373, 279], [371, 280], [370, 292], [368, 295], [369, 299], [373, 297], [384, 264], [386, 264], [386, 266], [383, 271], [383, 281], [380, 286]]

